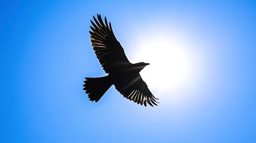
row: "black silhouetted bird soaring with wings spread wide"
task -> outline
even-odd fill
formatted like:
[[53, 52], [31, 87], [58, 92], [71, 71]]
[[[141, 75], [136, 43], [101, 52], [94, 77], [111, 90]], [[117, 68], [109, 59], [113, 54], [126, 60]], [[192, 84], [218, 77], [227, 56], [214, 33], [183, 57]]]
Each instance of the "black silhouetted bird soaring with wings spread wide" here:
[[128, 100], [146, 107], [147, 104], [158, 105], [159, 98], [154, 97], [147, 84], [140, 76], [140, 71], [149, 63], [129, 62], [119, 41], [116, 39], [111, 23], [107, 23], [107, 18], [101, 18], [97, 14], [98, 20], [92, 16], [95, 23], [91, 21], [90, 39], [92, 47], [100, 61], [101, 67], [107, 73], [103, 77], [85, 77], [83, 89], [90, 101], [98, 102], [106, 93], [110, 86], [114, 85]]

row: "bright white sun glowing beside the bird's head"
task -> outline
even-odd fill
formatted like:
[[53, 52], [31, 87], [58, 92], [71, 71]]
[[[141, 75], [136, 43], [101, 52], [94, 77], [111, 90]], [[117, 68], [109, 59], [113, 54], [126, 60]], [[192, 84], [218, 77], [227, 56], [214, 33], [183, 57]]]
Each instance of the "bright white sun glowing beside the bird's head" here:
[[175, 36], [147, 35], [136, 43], [135, 62], [150, 63], [140, 74], [150, 88], [160, 91], [181, 88], [192, 76], [192, 58], [186, 44]]

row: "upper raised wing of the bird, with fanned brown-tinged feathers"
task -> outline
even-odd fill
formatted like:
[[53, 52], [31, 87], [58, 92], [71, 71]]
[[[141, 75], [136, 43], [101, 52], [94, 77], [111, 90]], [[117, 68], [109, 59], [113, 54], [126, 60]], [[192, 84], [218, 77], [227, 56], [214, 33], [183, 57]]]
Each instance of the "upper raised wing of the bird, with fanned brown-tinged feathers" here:
[[104, 18], [105, 23], [100, 14], [97, 14], [98, 20], [93, 18], [96, 24], [91, 21], [93, 27], [90, 26], [92, 30], [90, 38], [95, 54], [106, 73], [120, 71], [127, 64], [131, 64], [121, 44], [115, 38], [111, 23], [107, 24], [107, 18]]

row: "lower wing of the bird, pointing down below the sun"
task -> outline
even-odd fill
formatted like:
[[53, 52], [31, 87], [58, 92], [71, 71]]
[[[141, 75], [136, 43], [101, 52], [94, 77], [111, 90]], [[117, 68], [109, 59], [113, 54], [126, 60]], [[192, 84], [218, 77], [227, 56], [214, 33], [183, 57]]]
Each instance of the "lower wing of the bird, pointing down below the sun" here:
[[[143, 81], [140, 74], [134, 76], [134, 78], [129, 78], [127, 80], [120, 80], [120, 82], [115, 83], [116, 89], [124, 95], [128, 100], [137, 102], [137, 104], [157, 105], [158, 103], [154, 95], [147, 88], [147, 84]], [[152, 104], [153, 103], [153, 104]]]

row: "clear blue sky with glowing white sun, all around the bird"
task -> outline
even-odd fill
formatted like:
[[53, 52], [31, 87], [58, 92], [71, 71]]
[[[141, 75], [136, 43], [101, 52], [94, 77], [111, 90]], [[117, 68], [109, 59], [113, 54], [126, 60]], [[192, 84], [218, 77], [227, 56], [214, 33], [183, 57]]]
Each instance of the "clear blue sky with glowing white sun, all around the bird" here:
[[[256, 142], [256, 1], [1, 1], [0, 142]], [[101, 14], [158, 107], [114, 86], [90, 42]]]

